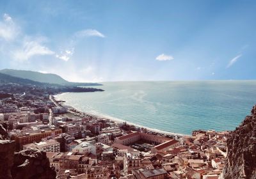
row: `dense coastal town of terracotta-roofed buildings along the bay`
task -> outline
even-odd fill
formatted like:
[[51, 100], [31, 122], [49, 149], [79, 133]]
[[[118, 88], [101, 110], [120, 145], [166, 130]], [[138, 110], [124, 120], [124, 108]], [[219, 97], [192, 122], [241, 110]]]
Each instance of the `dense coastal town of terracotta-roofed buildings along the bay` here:
[[52, 95], [0, 101], [15, 150], [46, 153], [57, 178], [217, 179], [230, 131], [170, 135], [77, 111]]

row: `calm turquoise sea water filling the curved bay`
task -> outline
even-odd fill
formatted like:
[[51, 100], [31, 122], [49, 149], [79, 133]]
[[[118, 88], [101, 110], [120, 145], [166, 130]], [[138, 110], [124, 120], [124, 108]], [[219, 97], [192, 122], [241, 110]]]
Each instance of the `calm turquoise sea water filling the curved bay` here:
[[234, 130], [256, 103], [256, 81], [104, 82], [104, 92], [56, 95], [67, 105], [167, 132]]

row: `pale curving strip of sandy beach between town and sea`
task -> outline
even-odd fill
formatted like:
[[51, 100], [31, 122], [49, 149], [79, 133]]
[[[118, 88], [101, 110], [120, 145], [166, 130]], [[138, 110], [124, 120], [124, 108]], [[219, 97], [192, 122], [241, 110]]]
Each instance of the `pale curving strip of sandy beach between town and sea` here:
[[[135, 127], [145, 128], [147, 130], [147, 132], [154, 133], [154, 134], [159, 134], [161, 136], [170, 136], [170, 137], [190, 136], [190, 135], [186, 135], [186, 134], [179, 134], [179, 133], [175, 133], [175, 132], [168, 132], [168, 131], [164, 131], [164, 130], [159, 130], [159, 129], [156, 129], [156, 128], [145, 127], [145, 126], [138, 125], [136, 123], [131, 123], [129, 121], [125, 121], [125, 120], [122, 120], [122, 119], [119, 119], [119, 118], [114, 118], [114, 117], [108, 116], [106, 114], [93, 114], [93, 113], [88, 113], [88, 112], [85, 112], [85, 111], [80, 111], [80, 110], [76, 109], [75, 107], [73, 107], [72, 105], [65, 104], [65, 102], [63, 102], [63, 100], [61, 100], [61, 98], [56, 97], [56, 95], [61, 95], [61, 94], [62, 93], [54, 94], [54, 95], [52, 95], [52, 98], [55, 100], [55, 102], [57, 104], [59, 104], [63, 107], [67, 107], [68, 112], [72, 113], [73, 111], [76, 111], [77, 115], [80, 115], [80, 116], [92, 116], [94, 118], [101, 118], [101, 119], [104, 118], [106, 120], [113, 121], [116, 124], [127, 123], [128, 125], [134, 125]], [[62, 101], [62, 102], [58, 102], [58, 101]]]

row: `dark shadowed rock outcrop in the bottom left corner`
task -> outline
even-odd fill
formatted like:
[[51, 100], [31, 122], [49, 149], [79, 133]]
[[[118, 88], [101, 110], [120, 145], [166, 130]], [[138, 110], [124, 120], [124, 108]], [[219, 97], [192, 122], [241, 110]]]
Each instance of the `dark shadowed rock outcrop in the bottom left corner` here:
[[15, 152], [15, 142], [8, 139], [6, 128], [0, 123], [0, 179], [56, 178], [46, 153], [35, 149]]

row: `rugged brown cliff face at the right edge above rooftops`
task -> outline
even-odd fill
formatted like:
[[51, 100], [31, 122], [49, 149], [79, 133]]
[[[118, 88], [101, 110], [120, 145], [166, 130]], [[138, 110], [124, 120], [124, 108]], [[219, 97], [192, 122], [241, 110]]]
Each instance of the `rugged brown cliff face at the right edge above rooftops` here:
[[256, 105], [227, 141], [228, 155], [220, 178], [256, 178]]

